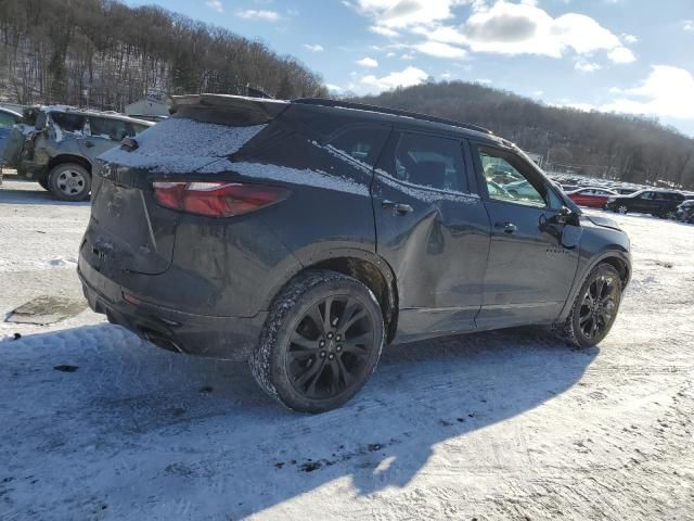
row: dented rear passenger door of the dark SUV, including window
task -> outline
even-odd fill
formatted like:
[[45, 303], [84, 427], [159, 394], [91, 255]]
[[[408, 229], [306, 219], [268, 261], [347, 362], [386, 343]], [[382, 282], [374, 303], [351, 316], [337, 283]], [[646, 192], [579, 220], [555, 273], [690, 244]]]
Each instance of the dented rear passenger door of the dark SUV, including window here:
[[398, 280], [398, 339], [472, 330], [481, 305], [489, 219], [455, 136], [396, 129], [372, 194], [377, 252]]

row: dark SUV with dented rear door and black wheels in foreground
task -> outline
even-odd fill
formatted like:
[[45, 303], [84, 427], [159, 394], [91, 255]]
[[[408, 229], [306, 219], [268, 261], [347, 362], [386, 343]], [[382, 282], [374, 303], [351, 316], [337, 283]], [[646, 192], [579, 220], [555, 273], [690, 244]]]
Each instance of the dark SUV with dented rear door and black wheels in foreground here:
[[[591, 346], [609, 331], [629, 239], [488, 130], [329, 100], [175, 103], [94, 170], [78, 269], [112, 322], [246, 359], [311, 412], [357, 393], [387, 343], [532, 323]], [[489, 190], [499, 169], [529, 187]]]

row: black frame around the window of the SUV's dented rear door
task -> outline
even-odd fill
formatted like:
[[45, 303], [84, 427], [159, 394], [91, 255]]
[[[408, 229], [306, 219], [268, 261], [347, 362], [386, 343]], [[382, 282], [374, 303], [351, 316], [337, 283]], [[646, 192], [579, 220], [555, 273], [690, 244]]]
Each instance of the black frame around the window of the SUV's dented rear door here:
[[[398, 179], [397, 177], [394, 177], [389, 171], [384, 169], [382, 163], [383, 163], [384, 155], [386, 153], [390, 155], [390, 161], [394, 163], [393, 166], [395, 167], [395, 152], [397, 150], [398, 144], [400, 143], [400, 139], [404, 134], [410, 134], [415, 136], [426, 136], [429, 138], [440, 138], [440, 139], [447, 139], [449, 141], [458, 142], [460, 147], [460, 156], [461, 156], [462, 166], [463, 166], [464, 177], [462, 180], [465, 182], [467, 187], [467, 191], [458, 191], [458, 190], [450, 190], [446, 188], [436, 188], [436, 187], [428, 187], [424, 185], [416, 185], [414, 182]], [[374, 167], [375, 175], [387, 177], [388, 179], [408, 188], [413, 188], [416, 190], [426, 190], [430, 192], [455, 195], [455, 196], [468, 196], [468, 198], [471, 195], [477, 196], [477, 182], [475, 179], [474, 171], [472, 171], [474, 169], [474, 164], [471, 161], [470, 151], [467, 150], [465, 139], [461, 136], [444, 134], [444, 132], [428, 132], [424, 130], [417, 130], [412, 128], [401, 128], [401, 127], [395, 126], [393, 127], [393, 131], [390, 132], [390, 136], [388, 136], [388, 139], [385, 145], [383, 147], [383, 150], [381, 151], [381, 155], [378, 156], [375, 165], [376, 165]]]

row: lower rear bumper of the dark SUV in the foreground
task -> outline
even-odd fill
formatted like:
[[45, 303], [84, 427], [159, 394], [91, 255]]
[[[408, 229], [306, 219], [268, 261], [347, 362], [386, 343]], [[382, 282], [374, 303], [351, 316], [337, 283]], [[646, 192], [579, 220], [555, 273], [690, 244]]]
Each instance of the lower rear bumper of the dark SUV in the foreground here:
[[267, 318], [210, 317], [178, 312], [151, 303], [131, 304], [124, 289], [93, 269], [82, 257], [77, 269], [89, 307], [159, 347], [191, 355], [246, 360], [253, 353]]

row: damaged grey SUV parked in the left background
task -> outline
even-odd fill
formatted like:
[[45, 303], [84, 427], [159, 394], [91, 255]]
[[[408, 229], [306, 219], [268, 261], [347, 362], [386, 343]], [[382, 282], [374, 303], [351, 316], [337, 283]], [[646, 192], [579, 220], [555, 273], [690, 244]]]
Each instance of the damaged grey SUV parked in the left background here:
[[36, 111], [28, 136], [26, 127], [12, 130], [5, 161], [55, 198], [83, 201], [91, 191], [94, 158], [152, 125], [115, 113], [43, 106]]

